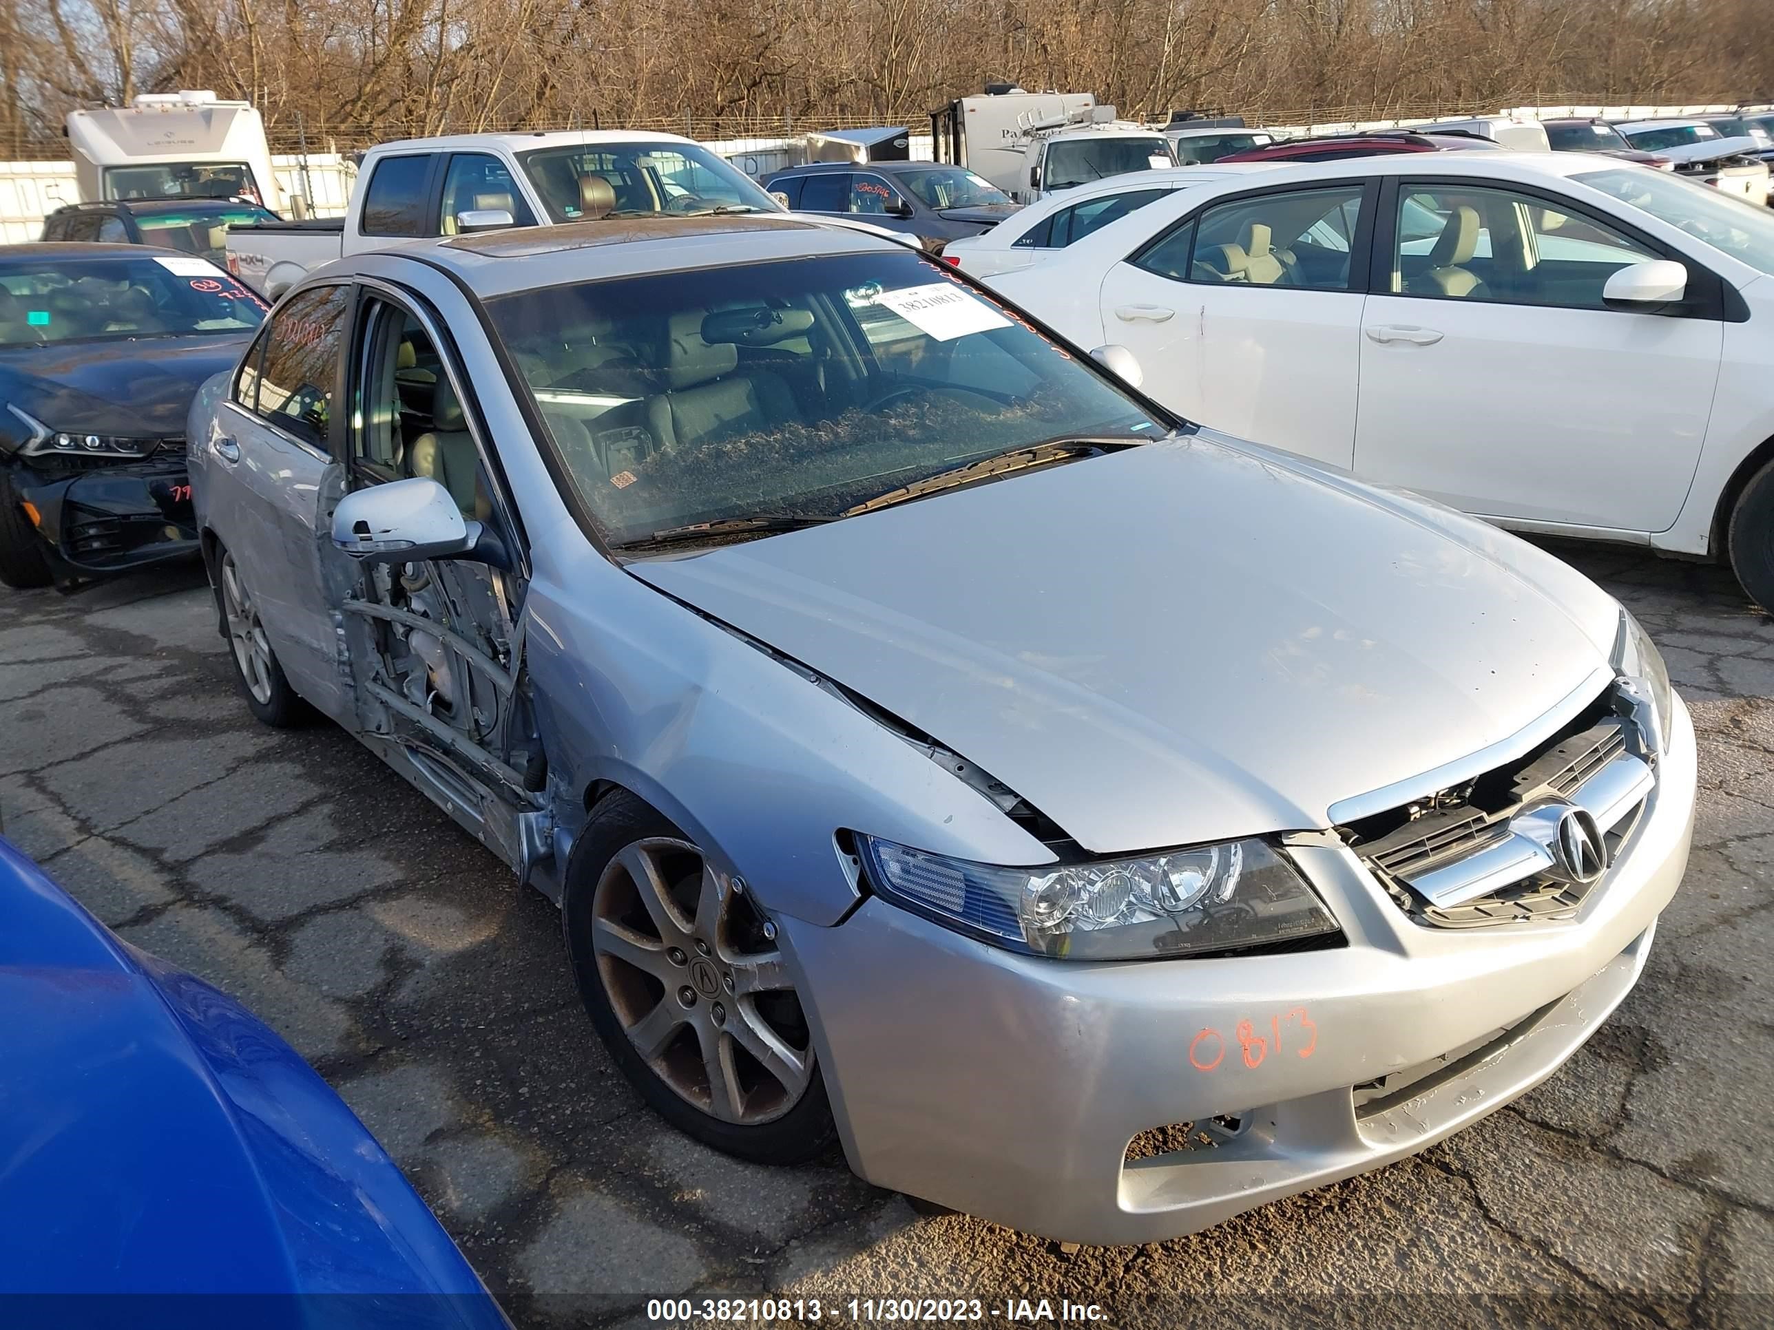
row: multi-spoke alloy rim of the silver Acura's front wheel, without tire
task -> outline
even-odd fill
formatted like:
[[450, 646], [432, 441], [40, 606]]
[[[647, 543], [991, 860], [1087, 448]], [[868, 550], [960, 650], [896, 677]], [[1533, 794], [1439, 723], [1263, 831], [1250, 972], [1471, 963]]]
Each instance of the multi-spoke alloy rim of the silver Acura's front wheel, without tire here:
[[687, 1103], [754, 1126], [812, 1082], [812, 1043], [775, 926], [688, 841], [624, 846], [593, 896], [598, 977], [628, 1041]]

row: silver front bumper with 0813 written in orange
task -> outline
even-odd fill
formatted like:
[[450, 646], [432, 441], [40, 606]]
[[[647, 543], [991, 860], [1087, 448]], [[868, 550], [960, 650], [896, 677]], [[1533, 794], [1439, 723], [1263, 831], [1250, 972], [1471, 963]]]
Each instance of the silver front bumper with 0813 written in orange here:
[[[1421, 927], [1320, 844], [1293, 855], [1336, 951], [1052, 961], [878, 897], [782, 936], [862, 1177], [1050, 1238], [1157, 1241], [1421, 1151], [1552, 1075], [1637, 981], [1692, 830], [1678, 704], [1657, 791], [1570, 922]], [[1183, 1123], [1212, 1147], [1126, 1160]]]

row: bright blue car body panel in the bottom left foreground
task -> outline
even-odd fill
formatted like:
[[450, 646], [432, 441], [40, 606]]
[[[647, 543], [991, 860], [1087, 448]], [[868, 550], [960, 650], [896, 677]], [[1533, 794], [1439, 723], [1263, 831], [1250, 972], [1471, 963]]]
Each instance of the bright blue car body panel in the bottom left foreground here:
[[[507, 1325], [282, 1039], [114, 938], [5, 841], [0, 1068], [0, 1295], [261, 1295], [170, 1300], [186, 1326]], [[44, 1316], [90, 1325], [101, 1302]], [[117, 1300], [135, 1323], [167, 1302]]]

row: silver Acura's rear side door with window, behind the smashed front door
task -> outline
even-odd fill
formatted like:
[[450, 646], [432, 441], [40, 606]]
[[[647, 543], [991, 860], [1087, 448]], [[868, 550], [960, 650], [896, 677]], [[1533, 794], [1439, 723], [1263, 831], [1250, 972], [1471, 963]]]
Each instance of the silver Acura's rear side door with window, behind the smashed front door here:
[[321, 505], [339, 488], [335, 403], [349, 316], [344, 282], [284, 300], [234, 378], [222, 408], [227, 433], [206, 445], [211, 527], [234, 557], [284, 674], [335, 720], [348, 718], [349, 699], [339, 688], [319, 543]]

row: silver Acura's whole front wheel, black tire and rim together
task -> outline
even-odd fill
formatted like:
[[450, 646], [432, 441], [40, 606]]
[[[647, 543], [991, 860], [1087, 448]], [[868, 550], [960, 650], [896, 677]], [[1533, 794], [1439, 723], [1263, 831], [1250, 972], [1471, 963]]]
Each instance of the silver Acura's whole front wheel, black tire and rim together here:
[[591, 1023], [660, 1117], [754, 1163], [830, 1147], [775, 926], [671, 821], [626, 791], [605, 798], [568, 865], [561, 917]]

